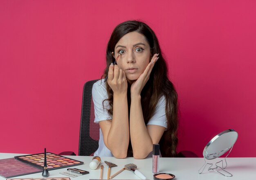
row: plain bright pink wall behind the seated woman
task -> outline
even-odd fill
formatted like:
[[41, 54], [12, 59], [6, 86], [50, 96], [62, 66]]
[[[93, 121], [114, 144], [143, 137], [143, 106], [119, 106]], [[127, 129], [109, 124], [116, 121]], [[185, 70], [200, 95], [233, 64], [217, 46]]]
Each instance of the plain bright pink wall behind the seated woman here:
[[199, 156], [223, 130], [256, 157], [253, 0], [0, 1], [0, 152], [78, 152], [82, 88], [101, 77], [114, 27], [144, 20], [180, 101], [178, 150]]

